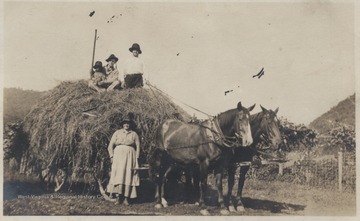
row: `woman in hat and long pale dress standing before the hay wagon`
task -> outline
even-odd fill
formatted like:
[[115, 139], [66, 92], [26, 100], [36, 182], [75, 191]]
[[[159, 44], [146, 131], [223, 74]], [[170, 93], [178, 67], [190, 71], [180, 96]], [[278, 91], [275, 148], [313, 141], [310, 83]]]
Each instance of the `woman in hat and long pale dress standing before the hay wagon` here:
[[115, 204], [129, 205], [129, 198], [136, 198], [136, 187], [140, 185], [139, 175], [134, 168], [139, 167], [140, 139], [133, 131], [134, 122], [124, 119], [122, 129], [112, 135], [108, 151], [111, 159], [111, 175], [107, 192], [115, 194]]

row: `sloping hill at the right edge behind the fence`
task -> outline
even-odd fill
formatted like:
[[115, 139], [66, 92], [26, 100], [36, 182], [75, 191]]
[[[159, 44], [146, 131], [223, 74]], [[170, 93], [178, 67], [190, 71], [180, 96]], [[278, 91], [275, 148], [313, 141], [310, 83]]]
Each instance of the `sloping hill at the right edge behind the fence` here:
[[343, 125], [355, 127], [355, 94], [312, 121], [309, 127], [320, 134], [325, 134]]

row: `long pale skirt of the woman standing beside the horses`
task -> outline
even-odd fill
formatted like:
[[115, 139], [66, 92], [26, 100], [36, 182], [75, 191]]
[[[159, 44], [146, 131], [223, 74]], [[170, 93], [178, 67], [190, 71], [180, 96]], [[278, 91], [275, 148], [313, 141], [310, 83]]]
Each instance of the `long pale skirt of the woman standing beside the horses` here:
[[136, 198], [136, 186], [140, 185], [140, 179], [137, 171], [132, 169], [138, 167], [136, 152], [133, 147], [126, 145], [116, 146], [107, 192]]

